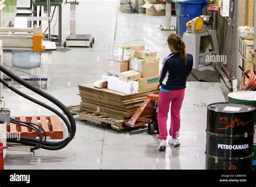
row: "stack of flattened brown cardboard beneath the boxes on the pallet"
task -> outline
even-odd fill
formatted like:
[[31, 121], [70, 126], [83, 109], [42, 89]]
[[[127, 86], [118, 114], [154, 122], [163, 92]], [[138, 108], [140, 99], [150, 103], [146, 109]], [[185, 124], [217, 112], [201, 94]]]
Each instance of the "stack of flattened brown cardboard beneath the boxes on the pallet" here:
[[158, 90], [140, 92], [135, 95], [113, 91], [110, 89], [98, 89], [91, 84], [81, 84], [79, 95], [81, 97], [80, 109], [92, 113], [98, 113], [118, 120], [128, 120], [144, 102], [147, 95], [158, 93]]

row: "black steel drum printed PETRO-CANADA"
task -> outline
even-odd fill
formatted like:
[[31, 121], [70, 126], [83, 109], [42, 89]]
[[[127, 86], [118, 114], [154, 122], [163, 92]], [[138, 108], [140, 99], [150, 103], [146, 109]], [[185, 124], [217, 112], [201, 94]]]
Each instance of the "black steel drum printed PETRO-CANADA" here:
[[252, 169], [254, 106], [207, 106], [206, 169]]

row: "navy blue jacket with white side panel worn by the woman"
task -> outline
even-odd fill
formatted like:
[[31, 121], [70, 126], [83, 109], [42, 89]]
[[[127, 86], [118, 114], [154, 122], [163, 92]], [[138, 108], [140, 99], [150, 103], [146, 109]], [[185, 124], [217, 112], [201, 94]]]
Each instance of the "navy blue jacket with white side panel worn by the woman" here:
[[165, 90], [182, 90], [186, 88], [186, 81], [193, 67], [193, 56], [187, 54], [187, 63], [180, 59], [179, 53], [171, 53], [165, 58], [159, 83]]

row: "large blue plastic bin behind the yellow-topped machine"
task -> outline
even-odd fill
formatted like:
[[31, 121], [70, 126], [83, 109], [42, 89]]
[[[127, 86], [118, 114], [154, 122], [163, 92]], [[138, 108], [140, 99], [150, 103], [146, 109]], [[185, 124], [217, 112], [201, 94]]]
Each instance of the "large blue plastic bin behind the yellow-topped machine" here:
[[175, 2], [178, 34], [183, 37], [183, 33], [186, 32], [186, 23], [190, 21], [188, 15], [194, 19], [203, 13], [203, 8], [208, 3], [206, 0], [177, 0]]

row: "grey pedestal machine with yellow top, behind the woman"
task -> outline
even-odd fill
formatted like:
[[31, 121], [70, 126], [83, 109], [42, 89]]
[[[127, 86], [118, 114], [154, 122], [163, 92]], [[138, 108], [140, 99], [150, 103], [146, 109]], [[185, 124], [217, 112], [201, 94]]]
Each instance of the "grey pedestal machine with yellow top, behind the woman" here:
[[212, 22], [212, 17], [200, 16], [191, 19], [186, 24], [187, 31], [183, 34], [183, 40], [186, 44], [186, 51], [193, 55], [193, 68], [195, 69], [198, 69], [199, 63], [206, 62], [206, 56], [219, 55], [216, 31], [207, 28], [208, 25], [212, 25]]

